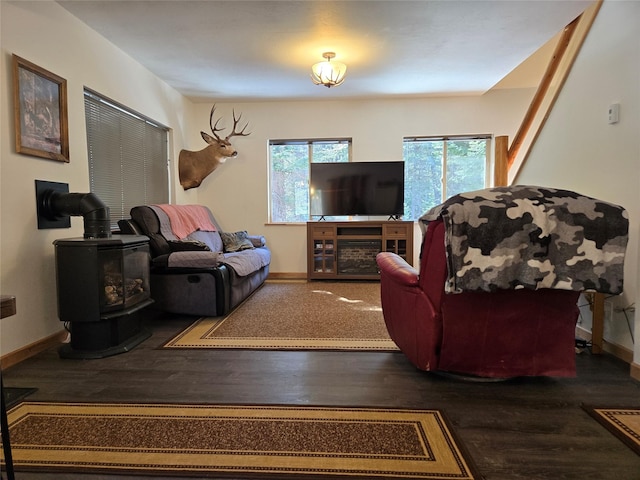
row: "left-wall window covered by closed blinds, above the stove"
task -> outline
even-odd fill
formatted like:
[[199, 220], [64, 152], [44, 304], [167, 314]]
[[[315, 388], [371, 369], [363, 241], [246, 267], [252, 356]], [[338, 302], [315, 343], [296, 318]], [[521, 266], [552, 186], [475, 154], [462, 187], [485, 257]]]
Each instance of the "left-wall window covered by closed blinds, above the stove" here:
[[89, 90], [84, 107], [90, 188], [111, 228], [136, 205], [168, 203], [168, 129]]

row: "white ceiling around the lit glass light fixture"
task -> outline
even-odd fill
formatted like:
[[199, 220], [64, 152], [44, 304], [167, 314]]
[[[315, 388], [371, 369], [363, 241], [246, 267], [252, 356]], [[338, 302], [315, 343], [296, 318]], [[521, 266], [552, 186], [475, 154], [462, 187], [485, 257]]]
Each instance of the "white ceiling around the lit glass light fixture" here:
[[[481, 94], [594, 1], [58, 3], [195, 101], [237, 101]], [[348, 67], [339, 87], [309, 78], [325, 51]]]

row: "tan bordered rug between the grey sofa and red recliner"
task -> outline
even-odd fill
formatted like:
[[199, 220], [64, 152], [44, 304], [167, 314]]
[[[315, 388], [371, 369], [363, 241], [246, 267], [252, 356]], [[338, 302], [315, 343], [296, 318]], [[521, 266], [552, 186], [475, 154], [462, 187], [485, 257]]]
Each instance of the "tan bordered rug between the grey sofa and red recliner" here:
[[266, 282], [226, 318], [202, 318], [164, 347], [398, 351], [378, 282]]

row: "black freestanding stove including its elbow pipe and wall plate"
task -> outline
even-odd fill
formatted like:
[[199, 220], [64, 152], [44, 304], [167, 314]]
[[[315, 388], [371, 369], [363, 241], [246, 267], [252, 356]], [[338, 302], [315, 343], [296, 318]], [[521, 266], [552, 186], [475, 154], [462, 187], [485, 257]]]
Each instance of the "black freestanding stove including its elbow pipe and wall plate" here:
[[112, 235], [109, 207], [93, 193], [66, 188], [36, 181], [38, 228], [63, 228], [58, 224], [69, 215], [84, 218], [83, 237], [53, 242], [58, 317], [71, 333], [58, 353], [103, 358], [127, 352], [151, 335], [140, 315], [153, 303], [149, 238]]

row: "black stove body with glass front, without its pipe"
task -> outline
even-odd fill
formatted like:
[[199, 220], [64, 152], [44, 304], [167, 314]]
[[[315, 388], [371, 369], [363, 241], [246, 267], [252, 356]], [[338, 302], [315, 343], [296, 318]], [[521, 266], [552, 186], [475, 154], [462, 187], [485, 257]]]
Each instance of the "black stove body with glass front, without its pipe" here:
[[140, 310], [153, 303], [149, 289], [149, 239], [138, 235], [69, 238], [56, 249], [58, 317], [71, 332], [64, 358], [123, 353], [150, 333]]

